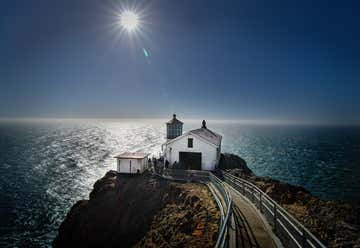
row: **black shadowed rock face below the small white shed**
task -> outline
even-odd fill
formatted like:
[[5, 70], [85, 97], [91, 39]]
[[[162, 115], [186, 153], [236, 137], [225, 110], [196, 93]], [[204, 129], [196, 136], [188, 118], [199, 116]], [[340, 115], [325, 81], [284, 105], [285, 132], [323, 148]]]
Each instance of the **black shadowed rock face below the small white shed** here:
[[94, 185], [90, 200], [77, 202], [61, 224], [55, 247], [128, 247], [146, 233], [164, 207], [167, 183], [108, 172]]

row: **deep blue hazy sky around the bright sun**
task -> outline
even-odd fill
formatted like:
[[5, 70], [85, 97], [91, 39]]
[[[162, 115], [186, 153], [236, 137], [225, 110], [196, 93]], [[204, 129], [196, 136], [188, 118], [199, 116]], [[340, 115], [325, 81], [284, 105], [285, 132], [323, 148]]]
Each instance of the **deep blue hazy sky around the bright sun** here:
[[357, 1], [0, 4], [0, 117], [360, 123]]

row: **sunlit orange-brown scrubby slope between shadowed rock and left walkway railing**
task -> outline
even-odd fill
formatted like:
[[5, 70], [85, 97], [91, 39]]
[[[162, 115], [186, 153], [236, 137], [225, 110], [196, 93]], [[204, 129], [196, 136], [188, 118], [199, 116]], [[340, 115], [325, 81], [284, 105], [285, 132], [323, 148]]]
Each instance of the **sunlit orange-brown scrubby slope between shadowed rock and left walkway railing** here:
[[169, 203], [135, 247], [214, 247], [220, 212], [206, 186], [171, 184], [165, 197]]

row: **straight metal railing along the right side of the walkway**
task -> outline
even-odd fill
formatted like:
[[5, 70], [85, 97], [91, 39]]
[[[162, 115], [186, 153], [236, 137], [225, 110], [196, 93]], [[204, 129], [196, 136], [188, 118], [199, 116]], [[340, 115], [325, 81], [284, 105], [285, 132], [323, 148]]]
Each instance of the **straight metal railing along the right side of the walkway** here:
[[257, 186], [227, 172], [224, 172], [223, 176], [226, 183], [230, 184], [260, 210], [285, 247], [326, 247], [306, 227]]

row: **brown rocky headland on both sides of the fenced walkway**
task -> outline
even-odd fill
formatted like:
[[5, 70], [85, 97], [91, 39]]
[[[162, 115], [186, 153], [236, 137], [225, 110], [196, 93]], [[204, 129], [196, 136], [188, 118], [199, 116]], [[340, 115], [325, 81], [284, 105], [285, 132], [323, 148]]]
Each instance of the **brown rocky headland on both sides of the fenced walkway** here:
[[[301, 186], [256, 176], [239, 156], [222, 154], [220, 169], [244, 178], [282, 205], [328, 247], [360, 247], [360, 206], [325, 201]], [[89, 200], [69, 211], [55, 247], [214, 247], [220, 212], [207, 187], [150, 173], [109, 171]]]

